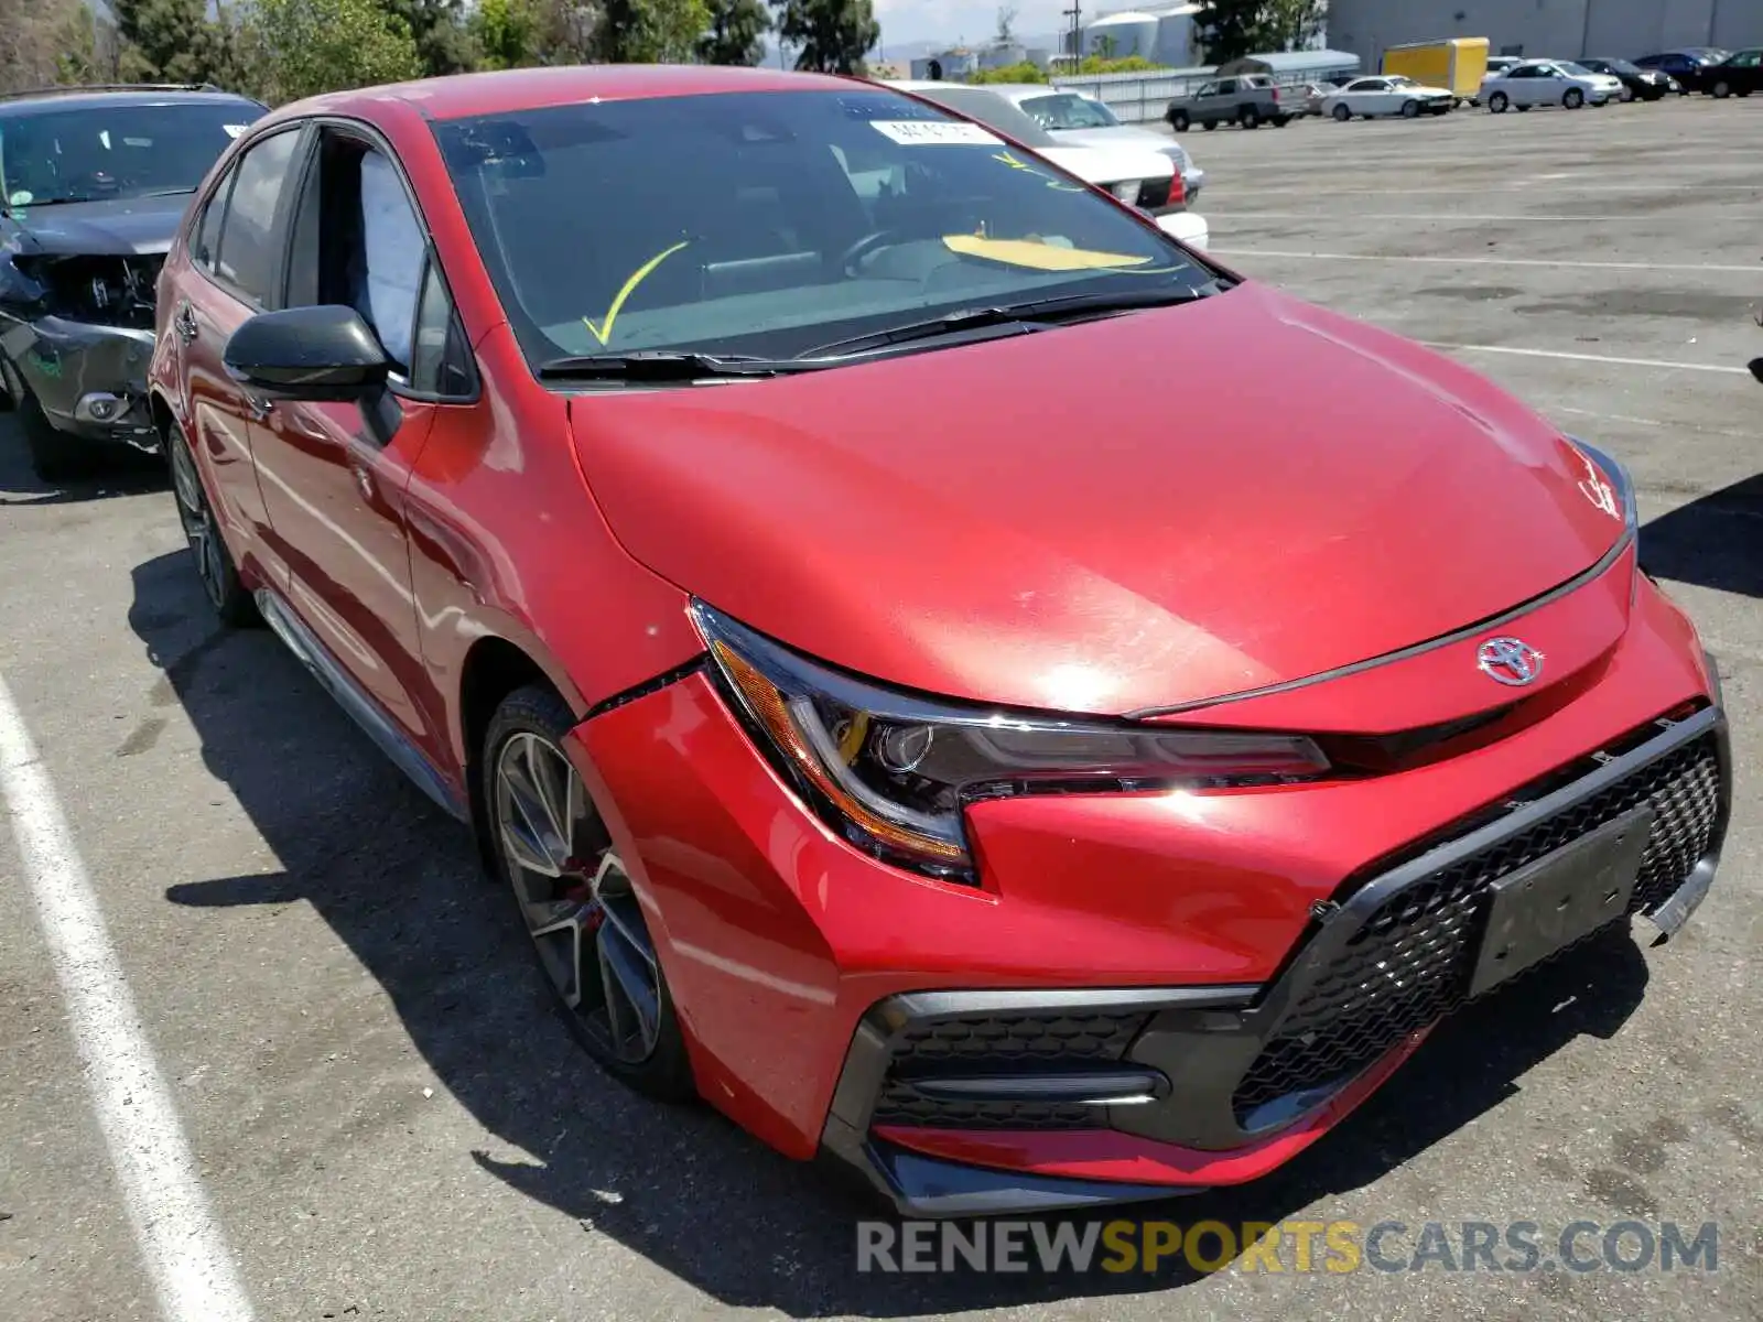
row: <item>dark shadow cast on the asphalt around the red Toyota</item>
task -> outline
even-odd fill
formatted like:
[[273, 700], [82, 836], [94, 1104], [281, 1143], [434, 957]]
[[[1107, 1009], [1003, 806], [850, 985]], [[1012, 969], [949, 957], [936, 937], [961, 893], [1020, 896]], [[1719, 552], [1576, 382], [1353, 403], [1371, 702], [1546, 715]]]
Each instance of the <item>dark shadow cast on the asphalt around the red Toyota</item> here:
[[[164, 672], [166, 702], [199, 733], [208, 770], [282, 867], [180, 881], [167, 901], [312, 906], [384, 991], [441, 1088], [490, 1135], [460, 1160], [573, 1218], [587, 1236], [580, 1253], [608, 1236], [719, 1304], [792, 1317], [941, 1313], [1197, 1280], [1174, 1264], [1151, 1276], [859, 1274], [855, 1222], [882, 1216], [878, 1204], [709, 1107], [656, 1105], [591, 1066], [550, 1010], [511, 899], [481, 880], [465, 828], [405, 784], [266, 629], [215, 631], [185, 552], [134, 569], [130, 624]], [[1645, 984], [1625, 934], [1596, 938], [1439, 1029], [1347, 1125], [1275, 1176], [1079, 1220], [1280, 1222], [1359, 1190], [1513, 1096], [1566, 1043], [1611, 1036]], [[395, 1075], [409, 1068], [400, 1056], [353, 1068]], [[1402, 1213], [1377, 1202], [1365, 1216]], [[472, 1271], [472, 1251], [462, 1241], [450, 1257]]]

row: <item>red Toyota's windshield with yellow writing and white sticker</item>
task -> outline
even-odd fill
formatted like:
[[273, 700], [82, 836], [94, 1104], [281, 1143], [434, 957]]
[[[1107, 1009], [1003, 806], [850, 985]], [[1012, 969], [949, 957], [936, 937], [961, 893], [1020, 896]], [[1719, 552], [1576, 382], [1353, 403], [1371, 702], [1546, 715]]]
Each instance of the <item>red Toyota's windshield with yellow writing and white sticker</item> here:
[[973, 308], [1216, 289], [1148, 220], [882, 88], [587, 102], [434, 132], [534, 367], [795, 358]]

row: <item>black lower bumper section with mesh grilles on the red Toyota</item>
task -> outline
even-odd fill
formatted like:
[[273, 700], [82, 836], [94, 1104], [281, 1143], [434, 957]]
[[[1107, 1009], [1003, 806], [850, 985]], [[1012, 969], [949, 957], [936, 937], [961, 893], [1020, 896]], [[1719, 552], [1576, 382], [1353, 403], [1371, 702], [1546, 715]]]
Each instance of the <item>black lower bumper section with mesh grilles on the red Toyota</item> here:
[[1349, 880], [1264, 985], [890, 996], [859, 1026], [822, 1142], [920, 1216], [1259, 1177], [1490, 985], [1495, 883], [1640, 820], [1640, 880], [1611, 915], [1670, 934], [1708, 890], [1730, 807], [1726, 721], [1710, 705]]

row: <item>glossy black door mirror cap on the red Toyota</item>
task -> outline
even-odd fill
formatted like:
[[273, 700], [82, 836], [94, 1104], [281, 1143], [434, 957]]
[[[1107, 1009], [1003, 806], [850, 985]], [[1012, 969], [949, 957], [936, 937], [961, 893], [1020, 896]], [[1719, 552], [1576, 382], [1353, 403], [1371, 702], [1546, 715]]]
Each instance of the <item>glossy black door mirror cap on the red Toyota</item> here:
[[294, 400], [358, 400], [386, 384], [391, 360], [351, 307], [259, 312], [226, 342], [242, 386]]

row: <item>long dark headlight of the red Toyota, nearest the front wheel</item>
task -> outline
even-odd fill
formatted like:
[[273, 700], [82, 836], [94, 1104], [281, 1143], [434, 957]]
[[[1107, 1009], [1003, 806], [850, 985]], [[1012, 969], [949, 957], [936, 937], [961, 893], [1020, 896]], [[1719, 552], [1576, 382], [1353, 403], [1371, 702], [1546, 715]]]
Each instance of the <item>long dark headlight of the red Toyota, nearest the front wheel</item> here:
[[714, 673], [756, 742], [846, 841], [971, 881], [963, 809], [1056, 791], [1216, 790], [1328, 772], [1303, 735], [1172, 730], [968, 707], [830, 670], [693, 605]]

